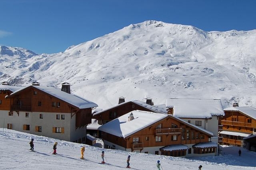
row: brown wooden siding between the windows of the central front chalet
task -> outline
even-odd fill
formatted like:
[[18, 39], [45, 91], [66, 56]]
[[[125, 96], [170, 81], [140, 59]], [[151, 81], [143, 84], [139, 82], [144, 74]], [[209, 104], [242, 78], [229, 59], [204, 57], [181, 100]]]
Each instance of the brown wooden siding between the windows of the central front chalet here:
[[[171, 133], [164, 133], [158, 134], [156, 133], [157, 126], [161, 124], [161, 129], [182, 129], [181, 133], [178, 134], [171, 134]], [[177, 127], [173, 128], [172, 124], [175, 124]], [[157, 129], [159, 130], [159, 129]], [[188, 138], [187, 138], [187, 131], [188, 131]], [[191, 133], [194, 133], [194, 139], [191, 138]], [[198, 135], [199, 139], [196, 139], [196, 134]], [[172, 135], [177, 135], [177, 140], [172, 140]], [[201, 139], [201, 135], [203, 135], [204, 139]], [[182, 136], [184, 137], [182, 139]], [[111, 135], [108, 133], [102, 132], [103, 139], [115, 143], [124, 148], [134, 148], [134, 146], [138, 145], [140, 149], [141, 146], [143, 147], [163, 147], [167, 145], [175, 145], [175, 144], [182, 144], [182, 145], [189, 145], [199, 142], [208, 142], [210, 136], [207, 136], [205, 133], [199, 132], [190, 126], [186, 126], [185, 124], [174, 120], [172, 117], [166, 117], [164, 120], [159, 121], [155, 124], [151, 124], [145, 129], [142, 129], [127, 138], [116, 137], [115, 135]], [[161, 137], [161, 141], [156, 141], [156, 137]], [[139, 138], [139, 141], [133, 142], [133, 138]], [[136, 145], [134, 145], [136, 144]]]

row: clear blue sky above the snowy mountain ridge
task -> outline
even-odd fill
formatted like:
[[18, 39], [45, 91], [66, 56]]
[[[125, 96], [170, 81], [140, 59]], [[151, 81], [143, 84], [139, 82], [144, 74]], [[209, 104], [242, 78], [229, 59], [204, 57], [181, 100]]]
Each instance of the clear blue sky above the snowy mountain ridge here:
[[205, 31], [256, 29], [254, 0], [1, 0], [0, 45], [63, 52], [147, 20]]

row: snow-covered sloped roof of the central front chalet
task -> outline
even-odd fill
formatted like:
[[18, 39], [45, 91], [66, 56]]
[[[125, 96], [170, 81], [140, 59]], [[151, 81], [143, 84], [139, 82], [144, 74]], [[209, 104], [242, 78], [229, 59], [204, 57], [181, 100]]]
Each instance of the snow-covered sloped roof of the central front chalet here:
[[[128, 121], [128, 117], [130, 116], [131, 113], [134, 116], [134, 120]], [[102, 126], [99, 127], [98, 130], [109, 133], [109, 134], [113, 134], [117, 137], [126, 138], [129, 135], [146, 128], [147, 126], [150, 126], [151, 124], [154, 124], [160, 120], [163, 120], [167, 116], [172, 116], [172, 115], [138, 111], [138, 110], [132, 111], [127, 114], [124, 114], [123, 116], [116, 118], [113, 121], [103, 124]], [[193, 128], [198, 129], [199, 131], [203, 131], [204, 133], [207, 133], [213, 136], [212, 132], [209, 132], [205, 129], [199, 128], [198, 126], [187, 123], [181, 120], [180, 118], [177, 118], [177, 117], [173, 117], [173, 118], [187, 124], [188, 126], [192, 126]]]

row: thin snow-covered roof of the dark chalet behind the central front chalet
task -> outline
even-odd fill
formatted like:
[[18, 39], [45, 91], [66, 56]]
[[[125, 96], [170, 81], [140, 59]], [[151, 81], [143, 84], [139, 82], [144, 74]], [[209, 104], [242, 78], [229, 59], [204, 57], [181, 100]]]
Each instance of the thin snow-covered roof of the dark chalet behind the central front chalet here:
[[150, 111], [155, 112], [155, 113], [167, 113], [167, 111], [166, 111], [165, 109], [163, 109], [163, 108], [151, 106], [151, 105], [146, 104], [145, 102], [140, 101], [140, 100], [132, 100], [132, 101], [125, 101], [124, 103], [121, 103], [121, 104], [118, 104], [118, 105], [116, 105], [116, 106], [110, 107], [110, 108], [105, 109], [105, 110], [103, 110], [103, 111], [96, 112], [96, 113], [93, 114], [93, 116], [98, 115], [98, 114], [101, 114], [102, 112], [106, 112], [106, 111], [108, 111], [108, 110], [110, 110], [110, 109], [113, 109], [113, 108], [115, 108], [115, 107], [119, 107], [119, 106], [125, 105], [125, 104], [130, 103], [130, 102], [132, 102], [132, 103], [134, 103], [134, 104], [137, 104], [137, 105], [140, 105], [140, 106], [142, 106], [142, 107], [145, 107], [145, 108], [147, 108], [147, 109], [149, 109]]

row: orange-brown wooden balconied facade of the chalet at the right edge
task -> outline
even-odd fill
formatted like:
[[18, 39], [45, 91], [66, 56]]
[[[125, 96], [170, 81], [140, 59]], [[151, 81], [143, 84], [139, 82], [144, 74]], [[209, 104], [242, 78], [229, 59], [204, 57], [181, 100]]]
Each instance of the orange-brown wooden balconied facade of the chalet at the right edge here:
[[[239, 107], [237, 107], [239, 108]], [[239, 111], [238, 109], [227, 109], [225, 116], [221, 120], [222, 130], [228, 132], [238, 132], [244, 134], [253, 134], [256, 132], [256, 120], [255, 118]], [[221, 134], [223, 145], [243, 145], [243, 136]]]

